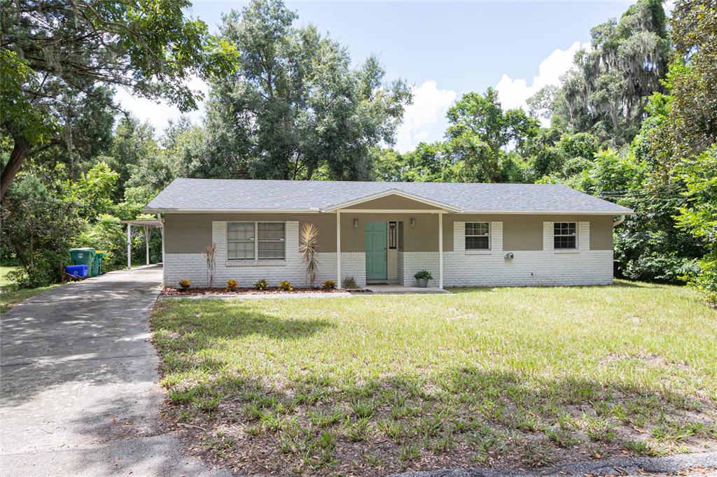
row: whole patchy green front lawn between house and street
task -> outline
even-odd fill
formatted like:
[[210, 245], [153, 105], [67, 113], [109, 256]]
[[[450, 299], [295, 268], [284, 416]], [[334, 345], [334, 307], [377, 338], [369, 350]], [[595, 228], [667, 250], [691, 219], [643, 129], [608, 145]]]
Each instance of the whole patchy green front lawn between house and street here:
[[243, 473], [717, 449], [717, 311], [676, 286], [162, 299], [165, 407]]

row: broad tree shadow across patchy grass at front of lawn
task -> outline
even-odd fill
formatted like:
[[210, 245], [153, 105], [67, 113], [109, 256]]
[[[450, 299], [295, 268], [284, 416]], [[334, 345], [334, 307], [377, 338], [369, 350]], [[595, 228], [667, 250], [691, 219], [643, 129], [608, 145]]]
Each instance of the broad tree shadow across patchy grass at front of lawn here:
[[[210, 458], [280, 475], [369, 476], [405, 471], [418, 460], [429, 469], [609, 458], [665, 423], [693, 425], [686, 411], [709, 406], [619, 380], [539, 379], [473, 366], [368, 380], [309, 373], [278, 385], [216, 360], [205, 380], [165, 385], [168, 415], [206, 429], [195, 428], [192, 443], [203, 442]], [[700, 438], [717, 438], [711, 418], [700, 426]]]

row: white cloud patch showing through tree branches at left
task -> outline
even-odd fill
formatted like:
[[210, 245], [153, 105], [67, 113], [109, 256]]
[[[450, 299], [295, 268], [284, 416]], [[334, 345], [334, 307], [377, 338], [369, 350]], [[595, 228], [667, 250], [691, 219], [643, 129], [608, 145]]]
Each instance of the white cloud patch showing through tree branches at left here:
[[[189, 80], [187, 85], [194, 91], [202, 92], [206, 99], [209, 85], [204, 80], [195, 76]], [[140, 120], [148, 121], [154, 126], [157, 133], [162, 133], [169, 120], [176, 121], [182, 115], [178, 107], [169, 105], [166, 101], [155, 102], [143, 97], [134, 97], [130, 91], [123, 88], [120, 88], [115, 94], [115, 102], [118, 102], [123, 110], [131, 112]], [[185, 113], [194, 124], [201, 122], [201, 117], [204, 115], [204, 102], [199, 103], [198, 107], [194, 111]]]

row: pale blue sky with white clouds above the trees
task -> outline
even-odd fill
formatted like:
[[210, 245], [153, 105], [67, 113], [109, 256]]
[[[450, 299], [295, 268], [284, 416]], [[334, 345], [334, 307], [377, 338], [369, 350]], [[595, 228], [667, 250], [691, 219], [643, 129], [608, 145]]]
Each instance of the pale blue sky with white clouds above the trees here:
[[[630, 1], [288, 1], [299, 24], [314, 24], [348, 47], [353, 62], [376, 54], [386, 80], [414, 85], [397, 148], [439, 140], [445, 112], [465, 92], [498, 87], [503, 107], [523, 104], [570, 67], [592, 26], [619, 17]], [[195, 1], [189, 14], [217, 30], [222, 12], [246, 2]], [[193, 86], [204, 89], [197, 81]], [[161, 130], [179, 112], [133, 100], [125, 108]], [[201, 120], [201, 110], [190, 115]]]

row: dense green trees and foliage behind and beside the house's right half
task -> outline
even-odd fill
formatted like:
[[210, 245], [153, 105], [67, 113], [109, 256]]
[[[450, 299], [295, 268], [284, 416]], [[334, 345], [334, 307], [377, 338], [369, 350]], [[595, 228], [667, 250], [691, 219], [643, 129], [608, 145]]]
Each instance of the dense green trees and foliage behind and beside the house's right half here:
[[635, 210], [616, 229], [615, 271], [629, 279], [717, 290], [717, 7], [639, 0], [592, 30], [560, 87], [503, 112], [468, 93], [445, 140], [400, 154], [374, 150], [376, 180], [556, 182]]

